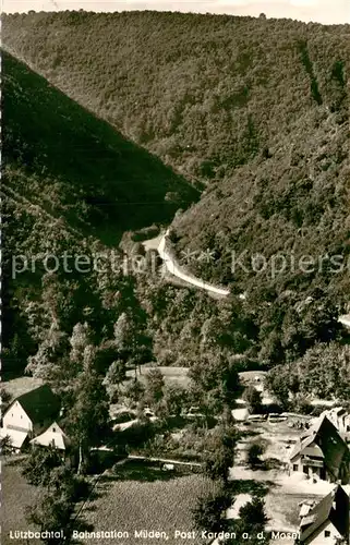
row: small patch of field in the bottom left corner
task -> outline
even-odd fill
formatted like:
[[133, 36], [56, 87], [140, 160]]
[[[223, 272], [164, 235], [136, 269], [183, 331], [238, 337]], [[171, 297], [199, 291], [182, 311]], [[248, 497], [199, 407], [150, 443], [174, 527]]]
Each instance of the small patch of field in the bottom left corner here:
[[[10, 531], [14, 530], [34, 530], [25, 520], [25, 508], [35, 502], [39, 489], [27, 484], [21, 475], [21, 469], [13, 461], [10, 464], [2, 461], [1, 471], [1, 494], [5, 501], [2, 501], [1, 508], [1, 544], [10, 545], [13, 540], [10, 538]], [[26, 545], [24, 540], [15, 540], [19, 545]], [[31, 540], [31, 544], [37, 545], [39, 540]]]

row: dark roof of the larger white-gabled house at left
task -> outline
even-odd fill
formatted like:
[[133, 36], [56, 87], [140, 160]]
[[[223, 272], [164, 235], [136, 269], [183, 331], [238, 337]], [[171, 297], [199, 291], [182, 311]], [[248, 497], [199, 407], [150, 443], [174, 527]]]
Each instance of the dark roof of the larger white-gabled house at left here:
[[55, 419], [60, 411], [60, 400], [48, 385], [39, 386], [15, 399], [27, 413], [33, 424]]

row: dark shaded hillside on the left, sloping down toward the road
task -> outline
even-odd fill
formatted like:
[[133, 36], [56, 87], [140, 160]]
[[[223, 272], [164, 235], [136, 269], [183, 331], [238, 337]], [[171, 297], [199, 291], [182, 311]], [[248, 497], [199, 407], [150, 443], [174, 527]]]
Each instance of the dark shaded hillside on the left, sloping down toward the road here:
[[10, 192], [107, 244], [125, 230], [171, 220], [196, 197], [158, 158], [9, 53], [3, 78]]

